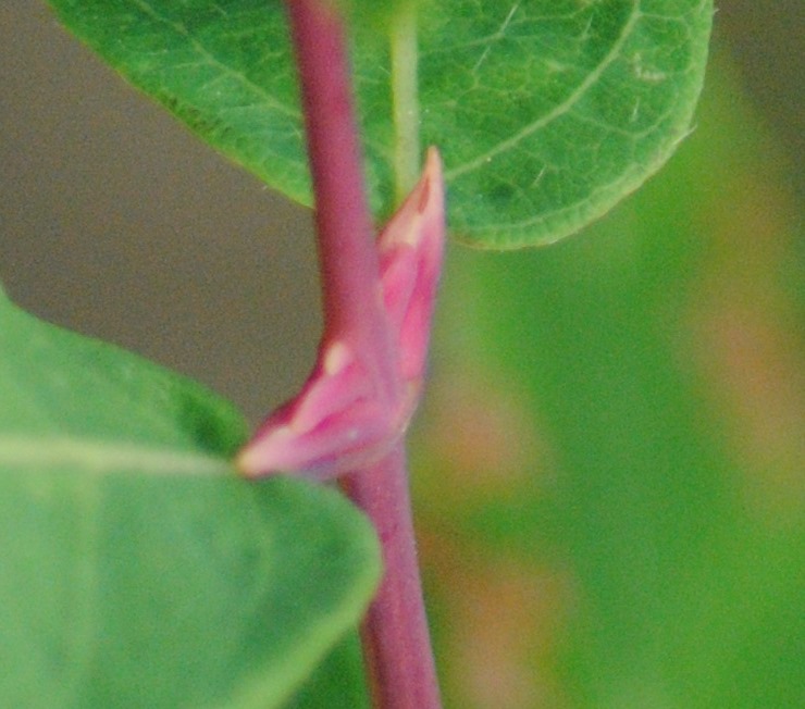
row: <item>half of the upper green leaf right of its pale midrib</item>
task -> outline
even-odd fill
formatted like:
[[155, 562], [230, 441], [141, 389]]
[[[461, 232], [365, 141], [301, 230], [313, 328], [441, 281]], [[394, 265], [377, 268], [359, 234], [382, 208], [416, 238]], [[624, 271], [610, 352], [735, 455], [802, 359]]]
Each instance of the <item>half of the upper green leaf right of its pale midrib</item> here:
[[639, 187], [688, 134], [707, 0], [425, 5], [423, 138], [444, 146], [457, 236], [555, 241]]

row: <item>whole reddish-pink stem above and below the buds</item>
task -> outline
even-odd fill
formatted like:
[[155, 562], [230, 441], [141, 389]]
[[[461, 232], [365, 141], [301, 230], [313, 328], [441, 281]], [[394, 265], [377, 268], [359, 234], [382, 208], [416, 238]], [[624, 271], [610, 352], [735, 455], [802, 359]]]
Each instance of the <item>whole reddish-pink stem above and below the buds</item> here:
[[[354, 347], [396, 401], [403, 384], [383, 309], [342, 23], [330, 2], [287, 4], [315, 195], [325, 338]], [[361, 632], [374, 707], [437, 709], [403, 444], [374, 467], [346, 476], [343, 486], [372, 519], [385, 562]]]

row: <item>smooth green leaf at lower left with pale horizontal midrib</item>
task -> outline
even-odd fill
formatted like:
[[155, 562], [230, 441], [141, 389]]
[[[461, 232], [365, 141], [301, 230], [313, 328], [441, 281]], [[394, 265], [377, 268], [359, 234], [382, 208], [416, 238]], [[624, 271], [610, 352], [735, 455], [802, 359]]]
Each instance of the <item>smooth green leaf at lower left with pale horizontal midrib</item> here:
[[245, 435], [200, 386], [0, 296], [0, 705], [296, 692], [357, 624], [379, 550], [334, 490], [238, 478]]

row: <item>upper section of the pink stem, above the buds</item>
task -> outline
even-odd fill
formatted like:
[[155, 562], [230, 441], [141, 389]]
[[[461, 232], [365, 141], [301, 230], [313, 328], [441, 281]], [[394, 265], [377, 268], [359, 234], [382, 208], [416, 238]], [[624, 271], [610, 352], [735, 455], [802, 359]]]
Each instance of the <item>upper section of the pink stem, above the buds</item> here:
[[330, 1], [288, 0], [296, 46], [324, 306], [324, 336], [362, 353], [395, 398], [392, 343], [363, 185], [344, 30]]

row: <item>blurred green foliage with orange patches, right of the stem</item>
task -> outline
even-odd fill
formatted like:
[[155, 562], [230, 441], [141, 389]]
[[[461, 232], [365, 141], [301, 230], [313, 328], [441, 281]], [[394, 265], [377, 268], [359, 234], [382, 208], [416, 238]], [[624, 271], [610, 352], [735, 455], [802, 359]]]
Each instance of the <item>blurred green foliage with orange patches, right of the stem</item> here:
[[448, 707], [805, 706], [801, 245], [726, 62], [549, 249], [454, 250], [416, 506]]

